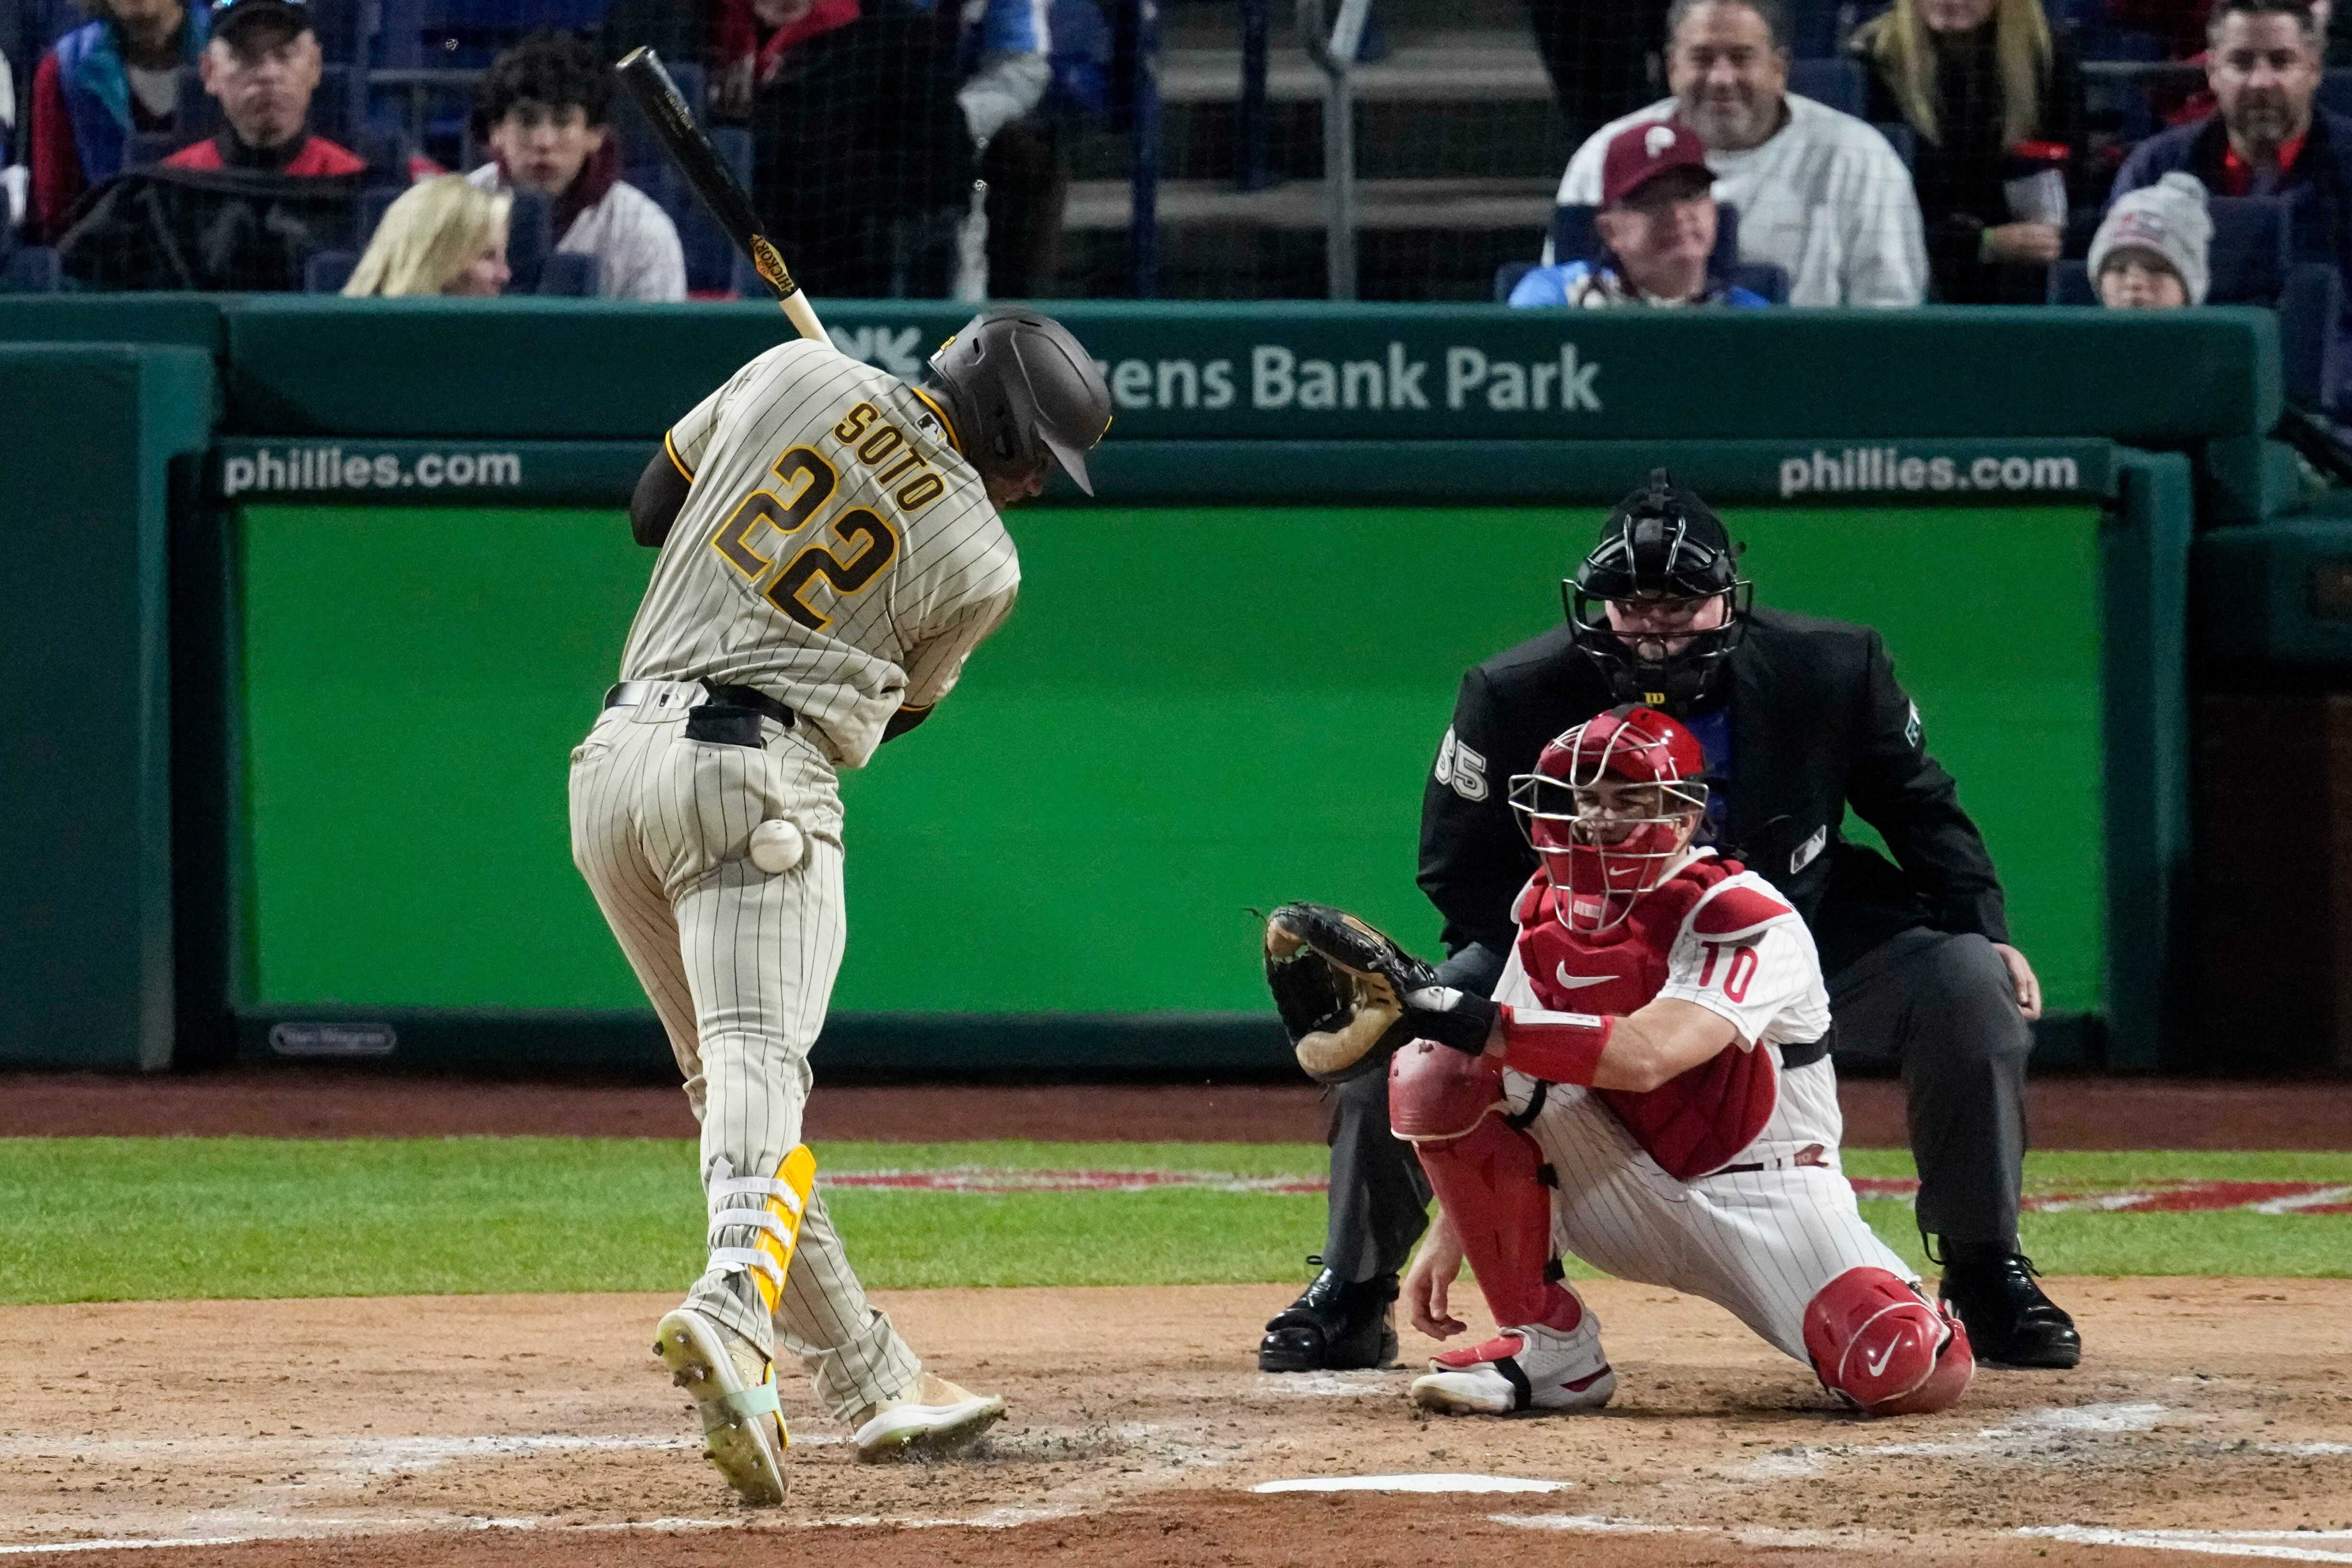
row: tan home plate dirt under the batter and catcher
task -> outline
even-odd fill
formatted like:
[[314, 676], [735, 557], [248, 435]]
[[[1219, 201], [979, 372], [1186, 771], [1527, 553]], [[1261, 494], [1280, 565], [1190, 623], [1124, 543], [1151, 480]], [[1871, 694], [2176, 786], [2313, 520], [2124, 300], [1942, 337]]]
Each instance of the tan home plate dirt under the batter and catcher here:
[[[0, 1556], [111, 1540], [191, 1542], [129, 1559], [153, 1568], [717, 1568], [746, 1547], [811, 1568], [2352, 1561], [2352, 1281], [2056, 1288], [2091, 1345], [2082, 1371], [1983, 1373], [1957, 1410], [1905, 1422], [1837, 1415], [1726, 1314], [1616, 1281], [1590, 1298], [1618, 1401], [1510, 1422], [1421, 1418], [1406, 1371], [1258, 1375], [1249, 1345], [1282, 1286], [891, 1293], [915, 1345], [1007, 1394], [1011, 1420], [957, 1462], [863, 1467], [793, 1380], [793, 1502], [769, 1512], [724, 1500], [644, 1349], [668, 1298], [12, 1307]], [[1406, 1474], [1524, 1490], [1251, 1490]]]

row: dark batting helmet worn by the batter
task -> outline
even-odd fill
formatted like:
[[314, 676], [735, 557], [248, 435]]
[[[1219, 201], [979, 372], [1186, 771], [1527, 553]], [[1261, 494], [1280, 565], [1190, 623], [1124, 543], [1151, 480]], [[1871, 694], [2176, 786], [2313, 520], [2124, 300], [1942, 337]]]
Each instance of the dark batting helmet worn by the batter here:
[[978, 313], [931, 355], [931, 386], [946, 393], [974, 468], [1030, 468], [1044, 449], [1094, 494], [1087, 451], [1110, 430], [1110, 388], [1051, 315]]

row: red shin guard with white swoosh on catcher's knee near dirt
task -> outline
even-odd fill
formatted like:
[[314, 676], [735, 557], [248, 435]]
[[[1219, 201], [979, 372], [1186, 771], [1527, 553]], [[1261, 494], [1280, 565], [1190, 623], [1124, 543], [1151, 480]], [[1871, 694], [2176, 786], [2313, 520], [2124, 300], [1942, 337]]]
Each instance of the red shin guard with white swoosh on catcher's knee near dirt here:
[[1820, 1387], [1867, 1415], [1929, 1415], [1976, 1375], [1969, 1331], [1886, 1269], [1846, 1269], [1804, 1307]]

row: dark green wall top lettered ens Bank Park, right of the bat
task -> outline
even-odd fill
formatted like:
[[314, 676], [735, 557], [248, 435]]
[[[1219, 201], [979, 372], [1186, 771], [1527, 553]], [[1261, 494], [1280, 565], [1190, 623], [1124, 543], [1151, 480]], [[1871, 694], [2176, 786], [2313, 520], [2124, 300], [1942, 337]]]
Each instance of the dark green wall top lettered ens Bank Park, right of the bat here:
[[[971, 320], [969, 306], [818, 303], [842, 353], [901, 378], [917, 378]], [[1806, 442], [1811, 489], [1830, 489], [1813, 444], [1837, 442], [1846, 489], [1959, 494], [1985, 484], [1907, 473], [1912, 451], [1886, 458], [1870, 444], [2154, 442], [2211, 425], [2197, 388], [2263, 376], [2241, 324], [2152, 343], [2131, 327], [2070, 320], [2100, 313], [1042, 308], [1101, 367], [1115, 440], [1790, 440]], [[2152, 378], [2133, 360], [2157, 348], [2180, 355], [2169, 362], [2178, 376]], [[1879, 473], [1884, 461], [1891, 470]], [[1992, 487], [2011, 489], [1999, 477]]]

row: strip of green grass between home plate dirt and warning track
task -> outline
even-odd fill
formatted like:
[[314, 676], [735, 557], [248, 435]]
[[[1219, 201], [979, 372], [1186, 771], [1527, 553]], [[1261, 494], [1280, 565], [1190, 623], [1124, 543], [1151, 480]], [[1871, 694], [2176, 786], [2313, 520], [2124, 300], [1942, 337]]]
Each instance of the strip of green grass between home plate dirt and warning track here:
[[[1312, 1145], [840, 1143], [826, 1171], [1188, 1168], [1319, 1175]], [[0, 1302], [506, 1291], [677, 1291], [701, 1269], [691, 1143], [447, 1138], [0, 1140]], [[1846, 1154], [1910, 1175], [1903, 1152]], [[2352, 1154], [2037, 1154], [2034, 1190], [2147, 1180], [2352, 1182]], [[1167, 1192], [828, 1199], [868, 1284], [1251, 1284], [1303, 1279], [1322, 1197]], [[1919, 1262], [1910, 1208], [1865, 1218]], [[2352, 1274], [2352, 1215], [2025, 1218], [2051, 1274]]]

